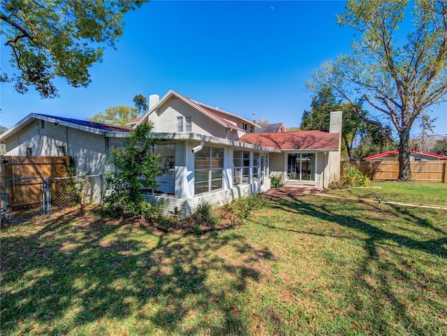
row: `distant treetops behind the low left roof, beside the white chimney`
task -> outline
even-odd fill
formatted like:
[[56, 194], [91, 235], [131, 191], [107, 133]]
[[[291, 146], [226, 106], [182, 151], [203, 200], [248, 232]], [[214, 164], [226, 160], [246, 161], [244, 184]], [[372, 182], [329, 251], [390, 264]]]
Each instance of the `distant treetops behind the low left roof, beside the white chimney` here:
[[89, 122], [126, 126], [126, 122], [139, 117], [142, 114], [142, 111], [147, 111], [147, 100], [142, 94], [135, 95], [135, 97], [133, 97], [133, 102], [135, 103], [135, 108], [123, 105], [110, 106], [105, 109], [104, 113], [98, 112], [87, 120], [89, 120]]

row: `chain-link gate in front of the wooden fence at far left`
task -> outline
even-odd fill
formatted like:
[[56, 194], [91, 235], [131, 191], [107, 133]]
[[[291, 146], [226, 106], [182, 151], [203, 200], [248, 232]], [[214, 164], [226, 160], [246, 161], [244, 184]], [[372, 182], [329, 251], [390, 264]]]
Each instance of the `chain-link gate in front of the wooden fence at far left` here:
[[8, 179], [1, 196], [0, 215], [6, 221], [23, 221], [45, 214], [45, 182], [42, 177]]

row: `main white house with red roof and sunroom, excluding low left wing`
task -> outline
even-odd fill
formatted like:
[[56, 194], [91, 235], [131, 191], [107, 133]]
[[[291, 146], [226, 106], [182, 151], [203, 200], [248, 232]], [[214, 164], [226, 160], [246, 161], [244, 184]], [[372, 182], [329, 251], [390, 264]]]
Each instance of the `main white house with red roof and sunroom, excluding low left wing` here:
[[338, 179], [342, 112], [330, 131], [258, 133], [249, 119], [169, 91], [135, 126], [154, 123], [163, 139], [162, 194], [147, 195], [189, 214], [203, 201], [225, 203], [270, 189], [270, 174], [293, 187], [328, 186]]

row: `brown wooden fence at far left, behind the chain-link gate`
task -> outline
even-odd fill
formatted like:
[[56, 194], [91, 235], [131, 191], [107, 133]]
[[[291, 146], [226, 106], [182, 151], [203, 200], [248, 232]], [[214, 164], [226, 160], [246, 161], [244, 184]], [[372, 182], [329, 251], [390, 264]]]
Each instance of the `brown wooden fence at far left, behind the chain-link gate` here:
[[[66, 177], [70, 156], [2, 156], [0, 162], [1, 193], [5, 181], [21, 177]], [[11, 206], [33, 205], [41, 202], [42, 180], [15, 180], [7, 185]]]

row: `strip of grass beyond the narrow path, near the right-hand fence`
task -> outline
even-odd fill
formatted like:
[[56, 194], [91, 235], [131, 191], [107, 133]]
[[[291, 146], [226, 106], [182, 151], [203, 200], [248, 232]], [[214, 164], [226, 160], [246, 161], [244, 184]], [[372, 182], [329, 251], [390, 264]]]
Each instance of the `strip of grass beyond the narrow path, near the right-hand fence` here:
[[341, 196], [389, 200], [400, 203], [447, 206], [447, 184], [424, 182], [372, 182], [369, 187], [332, 190]]

